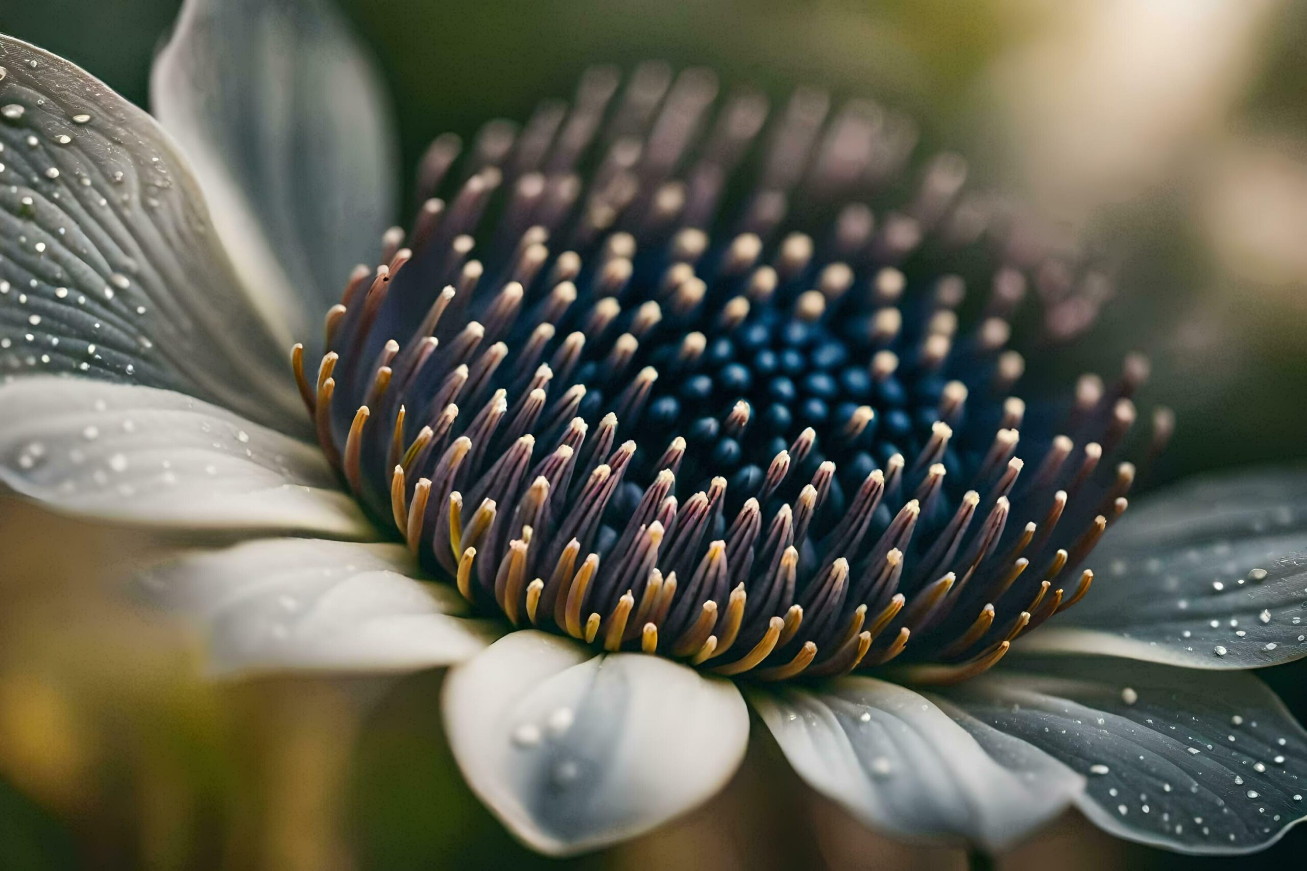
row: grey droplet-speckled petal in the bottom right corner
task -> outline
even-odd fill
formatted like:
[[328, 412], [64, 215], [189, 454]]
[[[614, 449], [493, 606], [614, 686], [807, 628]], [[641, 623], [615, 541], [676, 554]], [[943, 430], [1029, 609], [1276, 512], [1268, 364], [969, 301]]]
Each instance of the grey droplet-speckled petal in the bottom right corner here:
[[1307, 733], [1248, 673], [1018, 654], [940, 695], [1089, 772], [1077, 804], [1119, 837], [1251, 853], [1307, 814]]

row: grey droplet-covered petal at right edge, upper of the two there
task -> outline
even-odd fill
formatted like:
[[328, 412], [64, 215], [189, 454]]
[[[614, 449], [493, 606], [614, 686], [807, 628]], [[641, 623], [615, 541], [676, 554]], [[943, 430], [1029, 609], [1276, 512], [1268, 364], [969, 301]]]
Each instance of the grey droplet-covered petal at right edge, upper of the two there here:
[[1085, 601], [1025, 650], [1110, 653], [1195, 669], [1307, 656], [1307, 475], [1184, 482], [1141, 500], [1093, 559]]

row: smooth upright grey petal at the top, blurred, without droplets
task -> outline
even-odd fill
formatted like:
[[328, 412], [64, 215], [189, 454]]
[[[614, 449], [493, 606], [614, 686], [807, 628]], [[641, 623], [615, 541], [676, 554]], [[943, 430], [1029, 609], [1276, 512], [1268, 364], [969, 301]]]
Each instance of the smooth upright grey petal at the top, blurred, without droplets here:
[[396, 205], [391, 114], [348, 24], [323, 0], [187, 0], [150, 85], [242, 278], [316, 333]]

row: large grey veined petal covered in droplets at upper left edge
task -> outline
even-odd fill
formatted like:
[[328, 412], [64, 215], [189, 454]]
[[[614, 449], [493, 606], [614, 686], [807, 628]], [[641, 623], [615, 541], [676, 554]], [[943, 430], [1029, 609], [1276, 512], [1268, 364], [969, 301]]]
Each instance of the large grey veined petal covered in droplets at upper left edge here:
[[0, 375], [163, 387], [306, 428], [289, 336], [261, 320], [154, 120], [0, 35]]

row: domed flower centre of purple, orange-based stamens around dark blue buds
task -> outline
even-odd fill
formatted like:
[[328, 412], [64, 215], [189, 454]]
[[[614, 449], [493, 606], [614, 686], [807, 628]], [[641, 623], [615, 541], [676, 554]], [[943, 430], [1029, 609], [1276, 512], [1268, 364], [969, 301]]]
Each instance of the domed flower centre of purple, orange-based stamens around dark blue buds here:
[[[438, 138], [412, 230], [328, 312], [316, 379], [295, 346], [359, 501], [516, 627], [724, 675], [902, 654], [958, 680], [1078, 602], [1136, 477], [1103, 461], [1148, 366], [1027, 409], [1008, 341], [1031, 286], [1046, 341], [1084, 332], [1102, 277], [1031, 262], [955, 155], [907, 184], [914, 128], [870, 103], [827, 118], [800, 90], [754, 154], [758, 94], [714, 120], [712, 76], [661, 64], [617, 93], [592, 71], [571, 107], [491, 123], [461, 161]], [[975, 274], [989, 293], [963, 315]], [[1159, 410], [1150, 457], [1170, 431]]]

